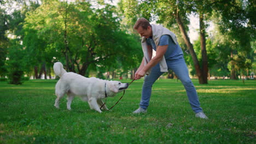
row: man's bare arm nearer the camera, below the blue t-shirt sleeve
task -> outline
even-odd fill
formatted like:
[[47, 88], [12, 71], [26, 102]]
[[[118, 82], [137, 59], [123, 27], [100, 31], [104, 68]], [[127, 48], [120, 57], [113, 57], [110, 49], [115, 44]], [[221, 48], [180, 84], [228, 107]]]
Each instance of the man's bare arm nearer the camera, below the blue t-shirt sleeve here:
[[158, 64], [162, 56], [165, 55], [165, 52], [167, 51], [168, 45], [159, 45], [156, 49], [156, 55], [153, 57], [147, 65], [145, 65], [138, 73], [139, 78], [144, 76], [146, 71], [148, 71], [150, 68], [154, 67], [156, 64]]

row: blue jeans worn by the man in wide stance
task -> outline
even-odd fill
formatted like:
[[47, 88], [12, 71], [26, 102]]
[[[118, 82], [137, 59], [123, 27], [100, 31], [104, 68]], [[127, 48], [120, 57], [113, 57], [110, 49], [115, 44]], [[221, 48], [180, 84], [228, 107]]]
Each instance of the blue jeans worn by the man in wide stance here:
[[[188, 68], [184, 61], [184, 58], [176, 59], [173, 61], [166, 61], [168, 69], [171, 69], [181, 80], [184, 88], [186, 89], [190, 106], [192, 110], [197, 113], [201, 112], [202, 108], [197, 97], [196, 89], [190, 80]], [[147, 109], [149, 106], [149, 100], [152, 92], [152, 86], [154, 82], [161, 76], [163, 73], [160, 71], [159, 63], [156, 64], [150, 71], [149, 75], [144, 77], [144, 83], [142, 86], [142, 97], [140, 102], [140, 107]]]

